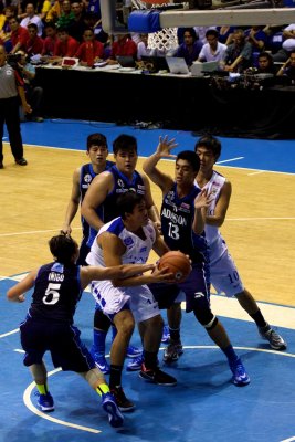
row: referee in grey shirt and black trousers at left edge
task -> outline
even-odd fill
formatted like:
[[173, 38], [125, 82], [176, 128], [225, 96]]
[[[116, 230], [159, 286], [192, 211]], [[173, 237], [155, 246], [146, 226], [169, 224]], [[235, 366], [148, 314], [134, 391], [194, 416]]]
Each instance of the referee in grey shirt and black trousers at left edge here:
[[31, 113], [27, 103], [23, 81], [19, 73], [7, 63], [7, 53], [0, 45], [0, 169], [3, 169], [3, 131], [7, 125], [9, 143], [17, 165], [25, 166], [20, 128], [19, 97], [25, 113]]

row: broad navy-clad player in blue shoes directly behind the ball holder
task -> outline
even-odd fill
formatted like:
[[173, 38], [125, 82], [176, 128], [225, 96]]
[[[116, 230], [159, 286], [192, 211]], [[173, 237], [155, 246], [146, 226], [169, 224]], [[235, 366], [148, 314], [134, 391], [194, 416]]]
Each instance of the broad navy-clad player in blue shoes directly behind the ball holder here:
[[[82, 203], [82, 215], [91, 225], [88, 246], [92, 245], [98, 230], [106, 222], [119, 215], [116, 200], [130, 189], [144, 196], [149, 218], [158, 225], [160, 224], [149, 181], [145, 175], [135, 170], [138, 159], [136, 138], [125, 134], [119, 135], [113, 143], [113, 152], [116, 165], [93, 180]], [[105, 340], [109, 327], [108, 318], [102, 314], [101, 309], [96, 308], [92, 354], [97, 366], [105, 373], [109, 372], [109, 366], [105, 359]], [[128, 348], [129, 357], [137, 357], [140, 354], [140, 348], [133, 346]]]

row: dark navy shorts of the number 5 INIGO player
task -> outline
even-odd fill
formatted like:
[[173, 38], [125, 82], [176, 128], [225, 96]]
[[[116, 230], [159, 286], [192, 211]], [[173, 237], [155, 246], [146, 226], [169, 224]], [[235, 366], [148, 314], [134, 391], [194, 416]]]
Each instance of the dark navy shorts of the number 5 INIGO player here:
[[95, 368], [89, 351], [80, 339], [81, 332], [73, 325], [29, 317], [21, 324], [20, 334], [27, 367], [42, 364], [45, 351], [50, 351], [54, 367], [64, 371], [85, 372]]

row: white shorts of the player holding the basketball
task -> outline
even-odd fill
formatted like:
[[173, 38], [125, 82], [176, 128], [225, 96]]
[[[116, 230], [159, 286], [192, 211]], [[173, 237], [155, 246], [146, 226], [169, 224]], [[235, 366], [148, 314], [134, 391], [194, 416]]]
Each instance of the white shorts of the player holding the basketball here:
[[136, 323], [160, 314], [158, 303], [147, 285], [114, 287], [110, 281], [94, 281], [91, 290], [96, 303], [110, 320], [126, 308], [131, 311]]

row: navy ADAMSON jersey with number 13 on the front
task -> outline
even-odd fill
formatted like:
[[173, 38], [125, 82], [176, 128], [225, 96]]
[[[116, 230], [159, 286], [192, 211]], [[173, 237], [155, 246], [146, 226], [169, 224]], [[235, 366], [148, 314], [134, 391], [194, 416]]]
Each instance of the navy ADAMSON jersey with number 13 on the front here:
[[204, 234], [197, 235], [191, 229], [194, 217], [194, 198], [200, 190], [193, 186], [185, 198], [177, 194], [176, 183], [164, 197], [161, 206], [161, 230], [166, 244], [171, 250], [188, 254], [192, 263], [208, 262]]

